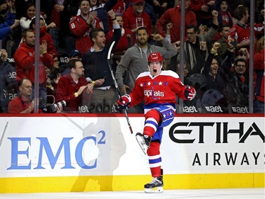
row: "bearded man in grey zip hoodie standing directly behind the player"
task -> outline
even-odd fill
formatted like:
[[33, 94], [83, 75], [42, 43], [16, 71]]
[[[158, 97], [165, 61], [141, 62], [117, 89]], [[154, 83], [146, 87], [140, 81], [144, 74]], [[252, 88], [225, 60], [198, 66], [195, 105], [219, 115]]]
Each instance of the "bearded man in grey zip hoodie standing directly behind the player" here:
[[[170, 42], [168, 42], [168, 40], [166, 40], [159, 34], [152, 35], [153, 40], [162, 42], [163, 47], [150, 45], [148, 43], [149, 35], [148, 30], [146, 28], [138, 28], [138, 30], [136, 31], [136, 35], [136, 44], [126, 50], [126, 52], [124, 53], [124, 57], [122, 57], [122, 60], [119, 63], [116, 71], [117, 83], [122, 93], [130, 93], [131, 89], [134, 88], [134, 83], [136, 81], [137, 76], [141, 72], [148, 71], [148, 68], [146, 67], [148, 65], [147, 57], [148, 55], [150, 55], [151, 52], [159, 52], [164, 59], [170, 59], [170, 57], [177, 54]], [[128, 85], [124, 84], [123, 76], [125, 72], [129, 73]], [[136, 108], [140, 109], [136, 110]], [[135, 106], [134, 109], [131, 108], [129, 111], [136, 111], [136, 113], [141, 113], [143, 111], [143, 108], [141, 105], [139, 105]]]

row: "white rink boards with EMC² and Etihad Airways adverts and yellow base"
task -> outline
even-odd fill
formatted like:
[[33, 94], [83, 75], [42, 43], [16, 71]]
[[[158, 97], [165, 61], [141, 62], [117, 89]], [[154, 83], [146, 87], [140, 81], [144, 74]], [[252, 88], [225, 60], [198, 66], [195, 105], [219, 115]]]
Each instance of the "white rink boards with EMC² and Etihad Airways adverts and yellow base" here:
[[[120, 114], [0, 118], [0, 193], [143, 189], [144, 118], [130, 121], [134, 134]], [[264, 187], [264, 117], [176, 115], [160, 149], [165, 189]]]

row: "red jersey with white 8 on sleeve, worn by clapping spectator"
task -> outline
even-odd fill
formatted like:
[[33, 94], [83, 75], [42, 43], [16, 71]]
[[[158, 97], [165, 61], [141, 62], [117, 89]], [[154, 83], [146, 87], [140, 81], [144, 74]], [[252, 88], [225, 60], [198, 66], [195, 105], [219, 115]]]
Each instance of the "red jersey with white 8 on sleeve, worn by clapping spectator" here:
[[98, 17], [95, 17], [95, 21], [93, 23], [93, 25], [88, 25], [82, 16], [73, 16], [70, 19], [70, 30], [74, 35], [76, 35], [76, 50], [79, 50], [82, 55], [93, 45], [89, 38], [90, 29], [93, 28], [93, 26], [95, 26], [95, 28], [102, 28]]

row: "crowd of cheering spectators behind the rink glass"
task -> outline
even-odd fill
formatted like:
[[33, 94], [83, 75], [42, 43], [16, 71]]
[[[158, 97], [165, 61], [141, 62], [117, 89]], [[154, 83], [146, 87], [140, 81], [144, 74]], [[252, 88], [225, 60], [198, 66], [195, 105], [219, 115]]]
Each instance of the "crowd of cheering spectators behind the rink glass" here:
[[148, 55], [160, 52], [163, 69], [177, 72], [197, 91], [193, 101], [179, 107], [183, 113], [249, 113], [249, 89], [254, 113], [264, 113], [264, 0], [255, 0], [254, 16], [249, 16], [250, 0], [182, 1], [40, 0], [36, 16], [34, 0], [0, 0], [0, 113], [34, 113], [36, 27], [39, 113], [61, 101], [65, 106], [54, 113], [119, 113], [107, 60], [112, 42], [111, 67], [122, 94], [148, 71]]

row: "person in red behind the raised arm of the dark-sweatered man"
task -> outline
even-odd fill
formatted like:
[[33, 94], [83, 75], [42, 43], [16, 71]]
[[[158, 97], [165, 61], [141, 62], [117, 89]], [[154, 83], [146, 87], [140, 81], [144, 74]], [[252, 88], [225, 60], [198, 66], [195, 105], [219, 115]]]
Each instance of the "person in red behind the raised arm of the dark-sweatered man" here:
[[[124, 53], [129, 47], [133, 45], [134, 42], [134, 35], [131, 33], [131, 30], [128, 28], [123, 28], [123, 18], [122, 16], [116, 16], [117, 22], [119, 23], [119, 27], [122, 31], [122, 37], [119, 39], [119, 42], [117, 43], [114, 50], [112, 50], [112, 53]], [[113, 36], [113, 29], [109, 31], [106, 35], [106, 43], [110, 42], [112, 36]]]

